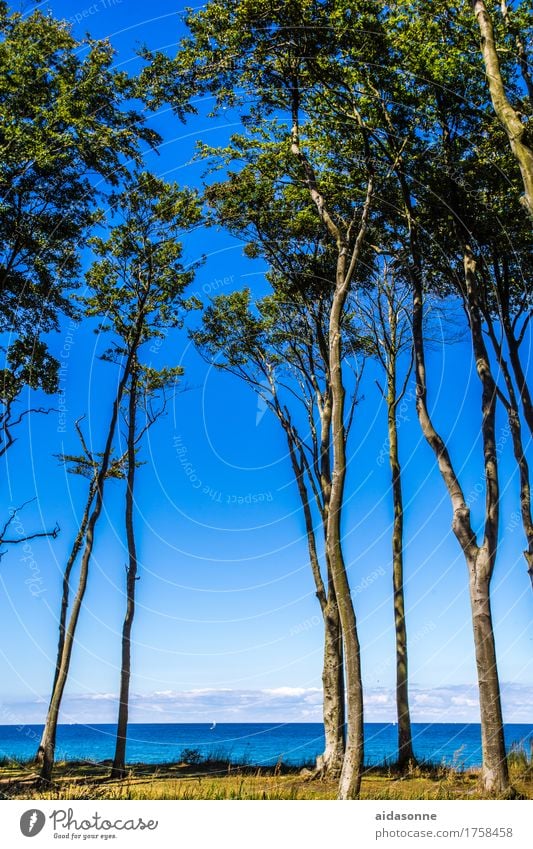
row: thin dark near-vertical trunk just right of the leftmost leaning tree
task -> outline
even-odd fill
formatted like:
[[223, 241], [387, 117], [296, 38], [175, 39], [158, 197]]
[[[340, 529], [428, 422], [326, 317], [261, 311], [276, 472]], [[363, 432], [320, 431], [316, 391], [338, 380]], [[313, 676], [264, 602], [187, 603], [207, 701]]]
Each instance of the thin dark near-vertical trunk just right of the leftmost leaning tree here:
[[126, 775], [126, 740], [131, 677], [131, 629], [135, 616], [135, 587], [137, 583], [137, 546], [133, 525], [135, 486], [135, 438], [137, 420], [137, 370], [132, 369], [128, 409], [128, 475], [126, 485], [126, 537], [128, 542], [128, 568], [126, 571], [126, 614], [122, 626], [122, 663], [120, 668], [120, 697], [118, 708], [117, 739], [111, 778]]

